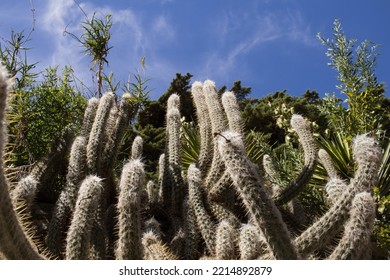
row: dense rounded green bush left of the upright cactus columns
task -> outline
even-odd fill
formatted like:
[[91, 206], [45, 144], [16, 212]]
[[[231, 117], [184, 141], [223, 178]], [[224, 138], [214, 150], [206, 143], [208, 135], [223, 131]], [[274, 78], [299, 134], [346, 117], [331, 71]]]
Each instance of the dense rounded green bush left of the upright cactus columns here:
[[71, 74], [69, 68], [61, 76], [56, 68], [47, 69], [41, 83], [11, 98], [9, 131], [15, 165], [41, 158], [59, 131], [80, 123], [86, 99], [75, 91]]

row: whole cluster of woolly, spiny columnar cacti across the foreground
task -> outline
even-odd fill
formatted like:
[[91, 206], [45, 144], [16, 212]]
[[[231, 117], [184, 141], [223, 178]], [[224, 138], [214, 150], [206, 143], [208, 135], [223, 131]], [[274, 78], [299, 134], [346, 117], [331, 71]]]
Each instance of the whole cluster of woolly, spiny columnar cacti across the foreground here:
[[[11, 80], [0, 69], [0, 257], [6, 259], [365, 259], [374, 221], [373, 186], [382, 151], [368, 135], [353, 145], [357, 170], [341, 181], [318, 151], [302, 116], [291, 126], [304, 151], [304, 167], [286, 187], [271, 157], [257, 166], [246, 155], [244, 127], [234, 93], [222, 98], [214, 82], [192, 85], [201, 136], [199, 158], [181, 164], [179, 96], [167, 104], [166, 146], [158, 181], [145, 181], [142, 138], [117, 172], [118, 147], [133, 111], [128, 95], [91, 99], [79, 135], [60, 144], [15, 187], [5, 174], [5, 108]], [[70, 131], [71, 128], [69, 129]], [[50, 189], [54, 159], [67, 163], [66, 180], [41, 230], [37, 192]], [[291, 211], [317, 161], [329, 172], [329, 209], [313, 224]], [[268, 176], [263, 176], [268, 173]], [[43, 228], [43, 229], [42, 229]]]

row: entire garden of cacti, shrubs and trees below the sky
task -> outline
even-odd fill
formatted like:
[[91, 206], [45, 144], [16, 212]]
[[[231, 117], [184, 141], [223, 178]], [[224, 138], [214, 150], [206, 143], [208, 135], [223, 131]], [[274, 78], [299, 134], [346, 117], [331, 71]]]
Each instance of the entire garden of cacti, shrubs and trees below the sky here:
[[35, 86], [0, 45], [0, 260], [390, 258], [390, 101], [371, 43], [354, 62], [340, 22], [318, 36], [348, 107], [189, 73], [150, 101], [140, 74], [122, 94], [104, 75], [111, 25], [83, 25], [104, 35], [79, 40], [88, 98], [70, 69]]

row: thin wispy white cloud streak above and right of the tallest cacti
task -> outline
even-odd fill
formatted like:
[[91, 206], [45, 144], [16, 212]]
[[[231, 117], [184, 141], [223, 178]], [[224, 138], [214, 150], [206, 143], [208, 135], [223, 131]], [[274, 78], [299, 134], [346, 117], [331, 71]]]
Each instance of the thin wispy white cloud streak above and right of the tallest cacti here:
[[[288, 10], [276, 12], [237, 14], [225, 11], [214, 29], [220, 45], [210, 51], [200, 73], [202, 76], [226, 77], [240, 67], [242, 60], [272, 42], [296, 43], [304, 47], [317, 46], [315, 35], [302, 14]], [[241, 35], [237, 35], [241, 34]], [[234, 36], [233, 36], [234, 35]], [[233, 41], [231, 38], [237, 38]]]

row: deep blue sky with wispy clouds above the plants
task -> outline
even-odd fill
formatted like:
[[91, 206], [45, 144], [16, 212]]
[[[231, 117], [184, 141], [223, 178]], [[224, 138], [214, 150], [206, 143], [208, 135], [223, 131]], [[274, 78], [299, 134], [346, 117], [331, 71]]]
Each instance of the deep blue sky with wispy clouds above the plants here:
[[[286, 89], [338, 93], [335, 70], [327, 66], [326, 47], [318, 32], [332, 36], [333, 21], [358, 42], [379, 44], [377, 77], [390, 84], [390, 1], [387, 0], [113, 0], [81, 1], [92, 15], [113, 15], [112, 50], [106, 72], [127, 81], [146, 58], [153, 89], [151, 98], [169, 87], [176, 73], [191, 73], [192, 81], [211, 79], [217, 86], [241, 80], [252, 87], [250, 97]], [[73, 0], [2, 0], [0, 36], [32, 27], [28, 57], [38, 68], [71, 65], [75, 75], [91, 85], [90, 60], [79, 43], [64, 36], [65, 27], [81, 34], [83, 13]], [[389, 96], [389, 93], [386, 93]]]

